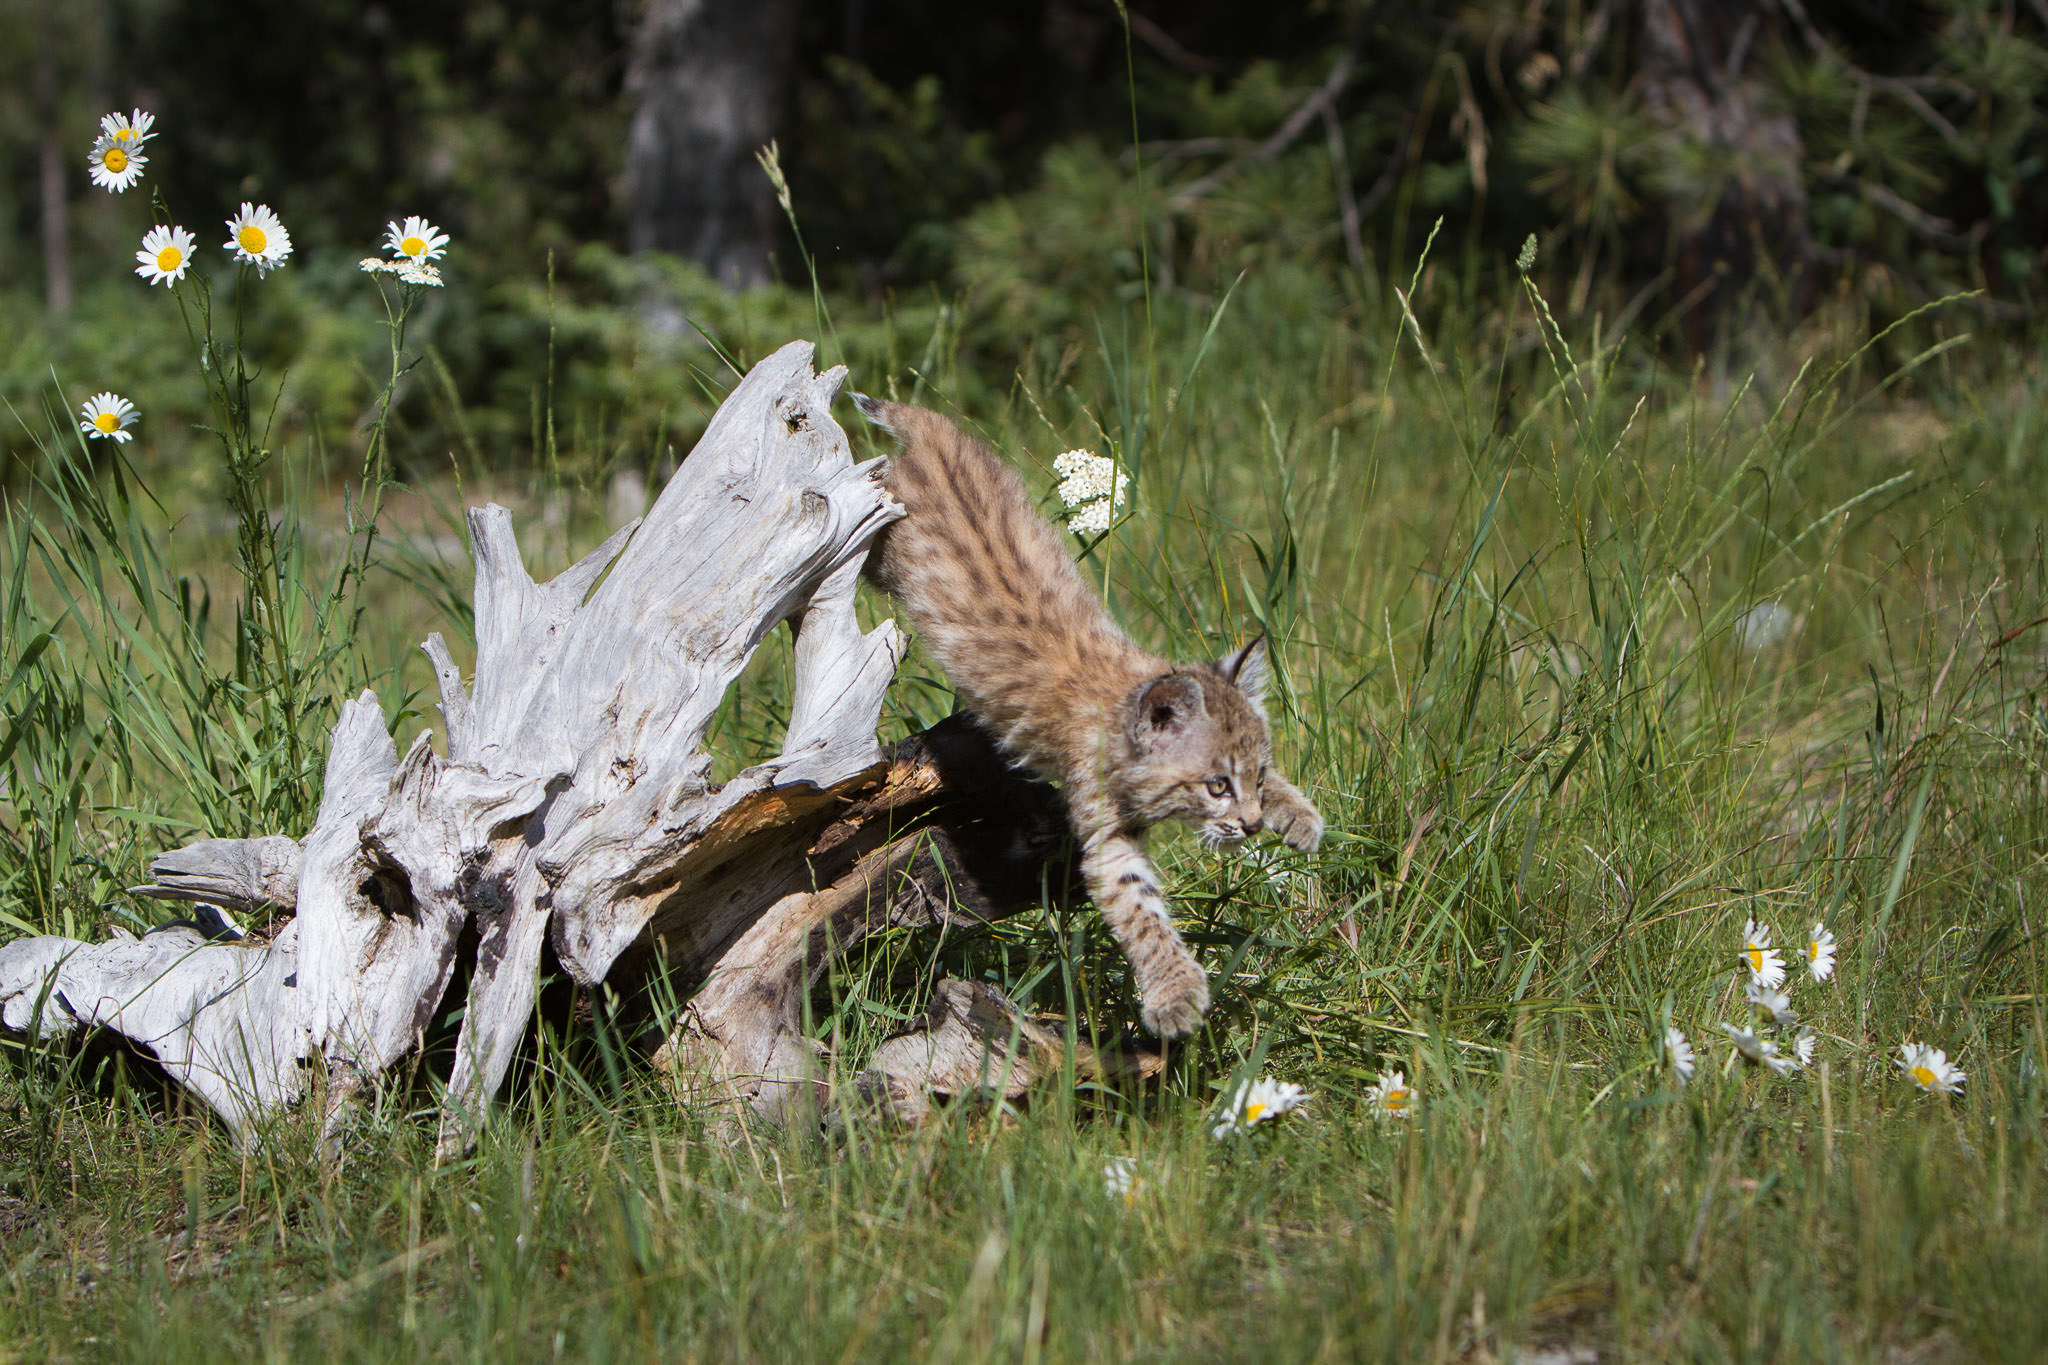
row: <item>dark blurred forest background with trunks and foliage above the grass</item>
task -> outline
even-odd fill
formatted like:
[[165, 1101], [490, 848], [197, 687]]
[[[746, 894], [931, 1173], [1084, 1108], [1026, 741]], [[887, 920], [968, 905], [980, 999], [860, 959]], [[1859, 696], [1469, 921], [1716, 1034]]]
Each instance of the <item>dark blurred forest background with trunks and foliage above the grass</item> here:
[[[160, 137], [111, 196], [86, 151], [131, 106]], [[1561, 313], [1714, 377], [1958, 291], [2032, 344], [2048, 248], [2048, 0], [4, 0], [0, 115], [0, 395], [115, 387], [158, 458], [199, 393], [131, 274], [152, 192], [223, 278], [207, 223], [283, 215], [252, 340], [336, 469], [383, 372], [356, 258], [406, 213], [455, 235], [401, 473], [651, 465], [707, 338], [903, 372], [944, 336], [973, 403], [1241, 272], [1378, 332], [1438, 219], [1434, 327], [1499, 317], [1534, 231]]]

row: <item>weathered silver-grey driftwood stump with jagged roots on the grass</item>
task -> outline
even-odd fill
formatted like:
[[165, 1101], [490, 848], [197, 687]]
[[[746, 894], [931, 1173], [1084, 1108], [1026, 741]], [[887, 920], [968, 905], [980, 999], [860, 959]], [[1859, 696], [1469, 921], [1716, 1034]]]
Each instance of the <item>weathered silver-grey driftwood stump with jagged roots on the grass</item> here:
[[[551, 941], [580, 982], [676, 984], [688, 1009], [657, 1060], [692, 1085], [766, 1113], [807, 1095], [801, 1001], [829, 956], [885, 923], [1036, 898], [1065, 835], [1053, 792], [971, 726], [877, 745], [901, 643], [893, 622], [862, 634], [854, 585], [901, 510], [829, 415], [842, 381], [813, 375], [803, 342], [762, 360], [649, 514], [549, 583], [526, 575], [504, 508], [471, 512], [471, 684], [438, 634], [424, 645], [444, 753], [422, 733], [399, 757], [365, 692], [342, 706], [303, 841], [207, 839], [137, 888], [289, 907], [289, 923], [262, 945], [190, 925], [4, 943], [0, 1023], [121, 1033], [242, 1138], [319, 1093], [334, 1134], [420, 1044], [473, 941], [440, 1130], [457, 1150], [526, 1033]], [[713, 786], [705, 729], [784, 620], [782, 753]]]

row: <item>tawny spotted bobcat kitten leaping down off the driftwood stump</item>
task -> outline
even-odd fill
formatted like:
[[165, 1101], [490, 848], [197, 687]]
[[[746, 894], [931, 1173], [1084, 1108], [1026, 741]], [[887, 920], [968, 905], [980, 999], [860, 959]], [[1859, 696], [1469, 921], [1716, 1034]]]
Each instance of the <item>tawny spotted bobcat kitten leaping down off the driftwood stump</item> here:
[[907, 516], [877, 540], [868, 577], [901, 600], [1001, 745], [1061, 784], [1081, 876], [1130, 960], [1145, 1027], [1194, 1031], [1208, 976], [1174, 931], [1145, 831], [1184, 821], [1208, 845], [1262, 827], [1296, 849], [1323, 839], [1323, 817], [1272, 767], [1266, 641], [1219, 663], [1145, 653], [1014, 469], [934, 411], [854, 401], [903, 440], [883, 481]]

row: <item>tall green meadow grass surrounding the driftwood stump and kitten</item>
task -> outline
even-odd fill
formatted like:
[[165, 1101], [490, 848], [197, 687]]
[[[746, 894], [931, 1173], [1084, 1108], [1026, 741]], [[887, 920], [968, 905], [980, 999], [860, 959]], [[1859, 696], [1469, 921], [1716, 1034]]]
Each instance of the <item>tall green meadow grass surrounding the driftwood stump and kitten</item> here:
[[[1114, 450], [1130, 518], [1087, 565], [1141, 639], [1276, 641], [1280, 755], [1331, 835], [1309, 857], [1163, 843], [1219, 1007], [1157, 1087], [733, 1140], [565, 1023], [473, 1160], [432, 1164], [420, 1085], [324, 1171], [297, 1117], [238, 1154], [133, 1072], [16, 1040], [0, 1355], [2040, 1359], [2042, 381], [1956, 340], [1960, 307], [1673, 372], [1534, 299], [1470, 321], [1413, 284], [1413, 325], [1284, 270], [1221, 313], [1104, 305], [1008, 375], [944, 323], [922, 350], [901, 319], [827, 334], [868, 391], [981, 399], [961, 415], [1040, 487], [1055, 452]], [[180, 575], [227, 591], [225, 553], [172, 563], [133, 485], [47, 479], [0, 579], [0, 917], [98, 935], [150, 915], [115, 894], [150, 851], [285, 806], [279, 753], [207, 692], [231, 675], [217, 620], [109, 632]], [[63, 489], [109, 516], [51, 516]], [[389, 516], [424, 524], [408, 497]], [[561, 555], [598, 538], [596, 497], [569, 489]], [[317, 561], [307, 540], [295, 581]], [[403, 739], [428, 722], [401, 714], [414, 604], [451, 585], [385, 563], [406, 606], [346, 647], [307, 616], [293, 649], [326, 714], [369, 679]], [[1796, 628], [1745, 647], [1765, 602]], [[182, 692], [121, 686], [143, 647]], [[723, 759], [772, 747], [784, 708], [770, 659]], [[885, 724], [946, 708], [913, 655]], [[1821, 1036], [1798, 1078], [1714, 1027], [1745, 1017], [1747, 917], [1841, 937], [1835, 980], [1792, 974]], [[881, 935], [815, 1029], [854, 1068], [940, 970], [1102, 1033], [1133, 1019], [1094, 915], [1032, 911]], [[1657, 1060], [1667, 1021], [1700, 1050], [1690, 1087]], [[1907, 1040], [1964, 1093], [1905, 1085]], [[1217, 1142], [1241, 1066], [1315, 1097]], [[1372, 1117], [1386, 1066], [1417, 1121]], [[1116, 1154], [1141, 1160], [1128, 1203], [1102, 1187]]]

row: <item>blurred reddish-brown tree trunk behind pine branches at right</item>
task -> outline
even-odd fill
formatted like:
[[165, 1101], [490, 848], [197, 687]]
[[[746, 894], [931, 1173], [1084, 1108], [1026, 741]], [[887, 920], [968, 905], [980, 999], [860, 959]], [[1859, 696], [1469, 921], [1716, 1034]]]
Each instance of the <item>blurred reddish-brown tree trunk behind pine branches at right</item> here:
[[1657, 182], [1677, 295], [1704, 313], [1722, 313], [1751, 284], [1800, 289], [1812, 252], [1798, 121], [1743, 78], [1776, 12], [1769, 0], [1642, 2], [1636, 80], [1671, 137]]

